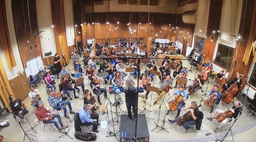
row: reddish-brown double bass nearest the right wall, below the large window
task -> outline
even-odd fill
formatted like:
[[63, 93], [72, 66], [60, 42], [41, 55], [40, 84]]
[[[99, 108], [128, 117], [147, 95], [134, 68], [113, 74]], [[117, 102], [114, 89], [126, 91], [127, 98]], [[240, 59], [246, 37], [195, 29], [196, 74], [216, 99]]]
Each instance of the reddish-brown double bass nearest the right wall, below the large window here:
[[[243, 77], [243, 75], [241, 75], [239, 77], [239, 80]], [[238, 80], [238, 79], [237, 79]], [[237, 86], [237, 81], [235, 83], [233, 83], [225, 92], [223, 92], [222, 96], [222, 101], [226, 104], [229, 104], [232, 99], [234, 98], [234, 95], [237, 93], [238, 91], [238, 86]]]

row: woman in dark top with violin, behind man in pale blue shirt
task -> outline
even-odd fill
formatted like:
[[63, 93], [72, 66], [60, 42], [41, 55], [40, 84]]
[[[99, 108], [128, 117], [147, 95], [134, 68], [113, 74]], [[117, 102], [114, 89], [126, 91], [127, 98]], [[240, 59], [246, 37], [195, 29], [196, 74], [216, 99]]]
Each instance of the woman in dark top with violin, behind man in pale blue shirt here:
[[93, 107], [91, 109], [92, 113], [95, 112], [96, 113], [96, 110], [98, 110], [100, 108], [100, 105], [98, 103], [95, 103], [95, 98], [94, 96], [91, 94], [91, 92], [89, 92], [88, 89], [85, 89], [84, 90], [84, 93], [83, 93], [83, 104], [88, 104], [90, 107], [92, 105], [95, 105], [95, 107]]

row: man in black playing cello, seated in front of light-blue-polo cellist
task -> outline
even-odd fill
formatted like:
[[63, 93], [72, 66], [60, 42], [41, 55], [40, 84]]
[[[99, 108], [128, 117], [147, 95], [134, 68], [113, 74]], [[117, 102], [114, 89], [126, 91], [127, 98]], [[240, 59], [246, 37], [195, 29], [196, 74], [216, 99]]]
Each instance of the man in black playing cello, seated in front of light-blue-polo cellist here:
[[[195, 101], [192, 101], [190, 103], [190, 106], [184, 108], [184, 110], [186, 109], [190, 109], [190, 112], [191, 112], [191, 115], [192, 117], [187, 120], [183, 125], [182, 127], [184, 127], [185, 129], [189, 129], [190, 126], [189, 125], [193, 125], [193, 124], [198, 124], [199, 123], [199, 120], [202, 120], [204, 118], [204, 114], [199, 111], [199, 109], [197, 108], [197, 102]], [[175, 118], [174, 120], [169, 120], [168, 121], [173, 124], [175, 122], [177, 122], [179, 120], [179, 118]]]

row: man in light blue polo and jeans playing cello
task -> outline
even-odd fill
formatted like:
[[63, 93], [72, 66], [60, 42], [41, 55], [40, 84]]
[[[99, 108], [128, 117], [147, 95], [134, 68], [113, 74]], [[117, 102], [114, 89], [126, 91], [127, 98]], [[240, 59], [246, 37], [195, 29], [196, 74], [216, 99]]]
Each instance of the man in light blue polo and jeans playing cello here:
[[[171, 97], [172, 97], [173, 95], [181, 95], [181, 96], [182, 96], [182, 99], [183, 99], [183, 101], [180, 102], [180, 104], [178, 105], [178, 109], [177, 109], [177, 112], [178, 112], [178, 113], [177, 113], [177, 115], [175, 116], [175, 119], [176, 119], [176, 118], [179, 117], [181, 107], [182, 107], [183, 105], [185, 105], [185, 101], [187, 100], [187, 97], [188, 97], [188, 96], [187, 96], [187, 92], [185, 92], [185, 90], [184, 90], [184, 88], [183, 88], [182, 86], [179, 87], [179, 90], [176, 90], [173, 94], [171, 94]], [[173, 100], [169, 101], [168, 103], [171, 103], [172, 101], [173, 101]], [[170, 111], [171, 111], [171, 109], [167, 111], [167, 115], [169, 114]]]

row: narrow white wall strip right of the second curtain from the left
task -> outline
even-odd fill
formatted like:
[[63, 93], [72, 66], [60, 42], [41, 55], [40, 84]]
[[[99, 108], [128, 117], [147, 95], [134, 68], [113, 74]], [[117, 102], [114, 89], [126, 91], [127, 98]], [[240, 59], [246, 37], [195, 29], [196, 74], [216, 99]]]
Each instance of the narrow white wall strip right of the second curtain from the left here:
[[73, 4], [72, 0], [64, 0], [64, 15], [65, 15], [66, 37], [67, 37], [68, 46], [72, 46], [75, 43], [72, 4]]

